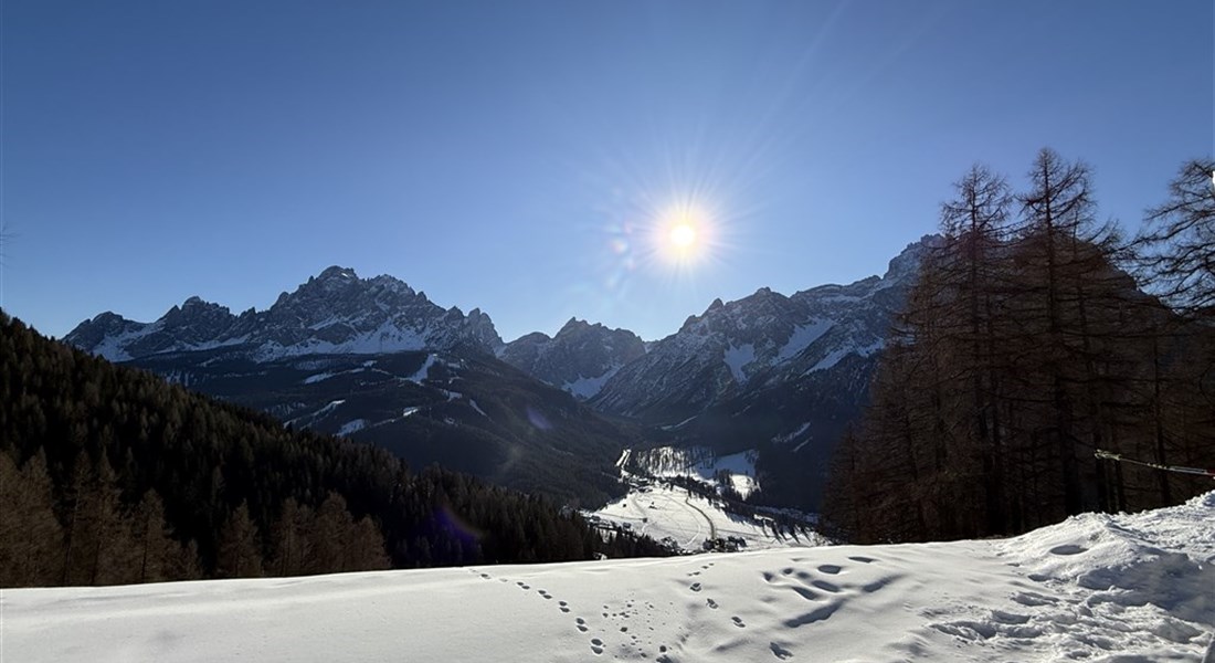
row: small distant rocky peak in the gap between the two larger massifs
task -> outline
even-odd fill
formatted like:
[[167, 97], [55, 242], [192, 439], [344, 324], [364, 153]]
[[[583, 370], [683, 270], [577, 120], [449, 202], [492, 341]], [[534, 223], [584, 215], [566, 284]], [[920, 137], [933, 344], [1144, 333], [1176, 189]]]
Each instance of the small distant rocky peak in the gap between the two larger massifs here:
[[498, 358], [580, 399], [588, 399], [625, 365], [645, 355], [645, 342], [571, 318], [556, 336], [533, 332], [507, 343]]

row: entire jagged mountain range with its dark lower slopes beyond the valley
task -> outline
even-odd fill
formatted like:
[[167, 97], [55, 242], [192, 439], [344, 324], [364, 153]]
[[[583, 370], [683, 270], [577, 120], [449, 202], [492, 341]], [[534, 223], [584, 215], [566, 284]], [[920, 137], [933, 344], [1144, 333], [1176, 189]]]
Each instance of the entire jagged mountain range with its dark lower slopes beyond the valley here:
[[614, 493], [625, 448], [706, 445], [758, 450], [765, 496], [814, 506], [825, 457], [864, 405], [891, 316], [934, 241], [850, 285], [717, 299], [651, 343], [577, 319], [504, 343], [479, 309], [443, 309], [392, 276], [340, 266], [262, 311], [191, 297], [153, 322], [103, 313], [64, 341], [515, 488], [598, 501]]

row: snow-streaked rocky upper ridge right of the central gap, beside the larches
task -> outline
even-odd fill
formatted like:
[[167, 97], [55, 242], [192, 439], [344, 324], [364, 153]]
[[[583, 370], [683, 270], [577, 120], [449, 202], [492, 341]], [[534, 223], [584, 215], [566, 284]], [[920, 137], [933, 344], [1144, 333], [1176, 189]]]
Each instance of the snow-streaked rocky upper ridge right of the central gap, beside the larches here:
[[910, 245], [883, 276], [792, 296], [762, 287], [733, 302], [714, 299], [621, 369], [593, 403], [671, 423], [744, 389], [830, 370], [849, 355], [868, 358], [881, 349], [891, 315], [903, 305], [932, 241]]

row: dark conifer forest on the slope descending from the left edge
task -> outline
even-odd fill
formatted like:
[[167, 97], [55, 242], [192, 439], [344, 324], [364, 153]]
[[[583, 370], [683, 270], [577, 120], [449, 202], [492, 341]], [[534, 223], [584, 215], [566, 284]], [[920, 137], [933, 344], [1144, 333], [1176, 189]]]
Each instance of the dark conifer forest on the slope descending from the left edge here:
[[573, 511], [283, 427], [0, 311], [0, 586], [665, 555]]

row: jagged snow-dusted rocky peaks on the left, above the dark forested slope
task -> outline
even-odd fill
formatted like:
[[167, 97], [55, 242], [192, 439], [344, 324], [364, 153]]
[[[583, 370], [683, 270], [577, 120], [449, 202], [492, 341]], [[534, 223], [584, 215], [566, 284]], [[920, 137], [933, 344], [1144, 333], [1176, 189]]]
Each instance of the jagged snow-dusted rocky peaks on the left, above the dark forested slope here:
[[258, 360], [304, 354], [378, 354], [468, 348], [495, 353], [502, 338], [480, 309], [442, 309], [391, 276], [360, 279], [330, 266], [264, 311], [233, 315], [191, 297], [159, 320], [132, 322], [103, 313], [64, 341], [112, 361], [162, 353], [241, 347]]

